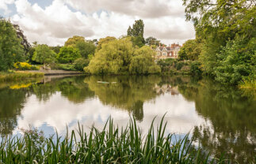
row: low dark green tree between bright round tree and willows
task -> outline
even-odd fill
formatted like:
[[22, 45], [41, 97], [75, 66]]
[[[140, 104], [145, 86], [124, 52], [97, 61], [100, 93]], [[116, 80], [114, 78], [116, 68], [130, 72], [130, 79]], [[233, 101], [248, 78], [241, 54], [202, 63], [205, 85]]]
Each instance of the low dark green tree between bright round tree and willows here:
[[57, 55], [60, 63], [73, 63], [78, 58], [81, 58], [81, 54], [74, 47], [62, 47]]

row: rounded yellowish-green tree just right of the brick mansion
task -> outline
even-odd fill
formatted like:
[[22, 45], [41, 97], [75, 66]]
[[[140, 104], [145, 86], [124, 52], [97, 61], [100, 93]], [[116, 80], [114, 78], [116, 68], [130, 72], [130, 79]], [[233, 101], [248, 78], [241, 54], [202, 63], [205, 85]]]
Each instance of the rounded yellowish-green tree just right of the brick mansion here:
[[187, 40], [178, 52], [178, 60], [195, 61], [201, 54], [201, 43], [196, 39]]

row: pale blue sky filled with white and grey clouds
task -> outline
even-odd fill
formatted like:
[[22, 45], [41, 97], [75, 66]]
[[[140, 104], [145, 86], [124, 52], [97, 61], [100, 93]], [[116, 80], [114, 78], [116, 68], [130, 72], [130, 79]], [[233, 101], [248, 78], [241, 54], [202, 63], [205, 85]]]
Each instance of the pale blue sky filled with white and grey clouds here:
[[0, 16], [19, 24], [29, 42], [63, 45], [73, 35], [86, 39], [126, 35], [142, 19], [144, 38], [162, 43], [193, 39], [182, 0], [0, 0]]

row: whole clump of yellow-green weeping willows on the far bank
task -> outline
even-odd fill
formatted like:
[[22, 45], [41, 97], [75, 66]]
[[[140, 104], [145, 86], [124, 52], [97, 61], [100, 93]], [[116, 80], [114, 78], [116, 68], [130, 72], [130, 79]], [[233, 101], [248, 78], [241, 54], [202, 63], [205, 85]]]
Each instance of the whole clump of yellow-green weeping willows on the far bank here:
[[[158, 73], [160, 68], [155, 65], [154, 55], [150, 47], [133, 47], [130, 38], [113, 39], [101, 45], [85, 71], [93, 74]], [[145, 63], [138, 65], [140, 62]]]

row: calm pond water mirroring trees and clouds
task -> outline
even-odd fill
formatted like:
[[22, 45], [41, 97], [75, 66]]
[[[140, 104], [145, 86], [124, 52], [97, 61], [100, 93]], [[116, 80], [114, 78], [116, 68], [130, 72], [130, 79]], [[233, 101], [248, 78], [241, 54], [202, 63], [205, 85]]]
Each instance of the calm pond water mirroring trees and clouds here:
[[[101, 84], [97, 81], [108, 81]], [[113, 83], [111, 83], [113, 82]], [[104, 125], [136, 117], [144, 132], [166, 114], [166, 132], [190, 136], [204, 150], [239, 162], [256, 152], [256, 96], [212, 80], [184, 76], [71, 76], [0, 84], [0, 133], [17, 134], [29, 125], [45, 134]]]

